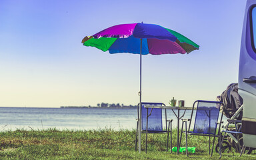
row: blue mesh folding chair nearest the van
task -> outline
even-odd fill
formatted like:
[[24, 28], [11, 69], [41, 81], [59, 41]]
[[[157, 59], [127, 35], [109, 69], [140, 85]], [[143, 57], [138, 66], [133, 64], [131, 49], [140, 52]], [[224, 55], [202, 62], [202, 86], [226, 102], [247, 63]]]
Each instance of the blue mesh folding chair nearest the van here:
[[[223, 104], [219, 101], [195, 101], [193, 103], [193, 109], [191, 112], [190, 119], [182, 119], [182, 127], [181, 127], [181, 136], [182, 133], [185, 133], [186, 137], [186, 155], [188, 156], [187, 151], [187, 135], [201, 135], [201, 136], [209, 136], [209, 155], [213, 155], [213, 146], [215, 142], [215, 137], [218, 137], [219, 143], [221, 142], [221, 132], [220, 132], [220, 123], [222, 121], [223, 113], [219, 115], [220, 106]], [[195, 112], [195, 120], [193, 121], [193, 113]], [[220, 120], [219, 120], [220, 117]], [[187, 129], [187, 121], [189, 121], [189, 128]], [[185, 123], [185, 131], [183, 131], [183, 125]], [[191, 125], [193, 125], [193, 129], [190, 130]], [[219, 129], [217, 130], [217, 126], [219, 125]], [[213, 146], [211, 148], [211, 137], [213, 137]], [[180, 142], [181, 143], [181, 138]], [[211, 157], [210, 156], [210, 157]]]

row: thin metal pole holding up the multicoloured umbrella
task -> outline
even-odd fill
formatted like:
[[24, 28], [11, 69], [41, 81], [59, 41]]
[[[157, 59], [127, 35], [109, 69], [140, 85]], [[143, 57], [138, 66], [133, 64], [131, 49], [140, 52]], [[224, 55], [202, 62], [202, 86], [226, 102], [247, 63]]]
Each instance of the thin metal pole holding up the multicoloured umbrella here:
[[[142, 39], [141, 39], [141, 49], [142, 49]], [[141, 53], [140, 53], [140, 81], [139, 81], [139, 153], [141, 153]]]

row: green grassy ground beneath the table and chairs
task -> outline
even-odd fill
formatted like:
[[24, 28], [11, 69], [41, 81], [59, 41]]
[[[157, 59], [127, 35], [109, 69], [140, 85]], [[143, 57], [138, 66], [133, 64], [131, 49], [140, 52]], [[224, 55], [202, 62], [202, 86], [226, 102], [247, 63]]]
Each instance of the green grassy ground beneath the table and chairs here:
[[[135, 151], [136, 131], [121, 129], [97, 130], [19, 130], [0, 132], [0, 159], [189, 159], [185, 153], [167, 153], [166, 135], [150, 134], [148, 153], [145, 153], [145, 134], [142, 136], [141, 154]], [[173, 146], [177, 146], [177, 130], [173, 131]], [[183, 140], [185, 140], [183, 138]], [[190, 136], [189, 146], [196, 147], [191, 157], [210, 159], [208, 155], [208, 137]], [[185, 141], [182, 142], [185, 145]], [[222, 159], [256, 159], [255, 151], [251, 155], [225, 153]], [[211, 159], [218, 159], [214, 152]]]

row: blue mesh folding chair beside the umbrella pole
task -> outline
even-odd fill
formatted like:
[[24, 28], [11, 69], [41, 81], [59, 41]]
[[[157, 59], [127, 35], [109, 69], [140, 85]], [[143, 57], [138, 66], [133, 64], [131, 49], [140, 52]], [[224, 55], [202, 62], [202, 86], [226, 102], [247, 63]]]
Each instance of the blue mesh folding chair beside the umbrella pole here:
[[[167, 112], [165, 109], [165, 128], [163, 128], [162, 110], [161, 108], [146, 109], [146, 105], [159, 105], [165, 106], [163, 103], [141, 103], [141, 133], [146, 133], [146, 148], [147, 153], [147, 133], [167, 133], [167, 146], [166, 151], [168, 151], [169, 145], [169, 133], [171, 134], [171, 123], [173, 119], [167, 120]], [[139, 132], [139, 104], [137, 107], [138, 119], [137, 119], [137, 132], [136, 132], [136, 144], [135, 151], [137, 151], [137, 137]], [[148, 115], [148, 116], [147, 116]], [[147, 123], [148, 121], [148, 123]], [[168, 127], [167, 127], [168, 122]], [[171, 135], [171, 148], [172, 148], [172, 135]]]

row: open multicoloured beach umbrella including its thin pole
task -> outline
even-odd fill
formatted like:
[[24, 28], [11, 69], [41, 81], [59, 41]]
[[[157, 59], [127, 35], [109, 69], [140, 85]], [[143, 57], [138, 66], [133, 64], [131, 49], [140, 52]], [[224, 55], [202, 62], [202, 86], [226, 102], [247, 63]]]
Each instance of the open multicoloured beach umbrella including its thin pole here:
[[155, 24], [130, 23], [114, 25], [82, 40], [83, 45], [96, 47], [109, 53], [140, 54], [139, 90], [139, 152], [141, 151], [141, 57], [142, 55], [162, 55], [190, 53], [199, 45], [171, 29]]

